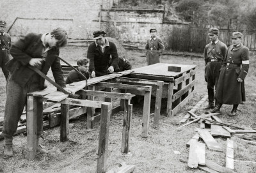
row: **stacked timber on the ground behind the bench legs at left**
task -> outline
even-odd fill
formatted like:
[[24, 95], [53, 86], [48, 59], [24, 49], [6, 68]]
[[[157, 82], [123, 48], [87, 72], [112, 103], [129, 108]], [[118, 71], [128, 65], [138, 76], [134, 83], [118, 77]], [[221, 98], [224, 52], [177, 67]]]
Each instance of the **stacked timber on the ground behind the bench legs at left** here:
[[[46, 105], [46, 103], [45, 103]], [[81, 107], [70, 107], [69, 110], [69, 119], [77, 118], [85, 113], [86, 110], [81, 109]], [[47, 128], [53, 128], [54, 126], [59, 126], [61, 121], [61, 107], [60, 103], [54, 104], [50, 107], [47, 107], [43, 110], [43, 116], [44, 116], [44, 123], [43, 127], [44, 130]], [[0, 117], [0, 140], [4, 139], [4, 136], [2, 134], [3, 131], [3, 120], [4, 117]], [[26, 126], [26, 112], [22, 113], [22, 116], [20, 117], [20, 121], [18, 123], [18, 128], [15, 134], [26, 132], [27, 126]]]

